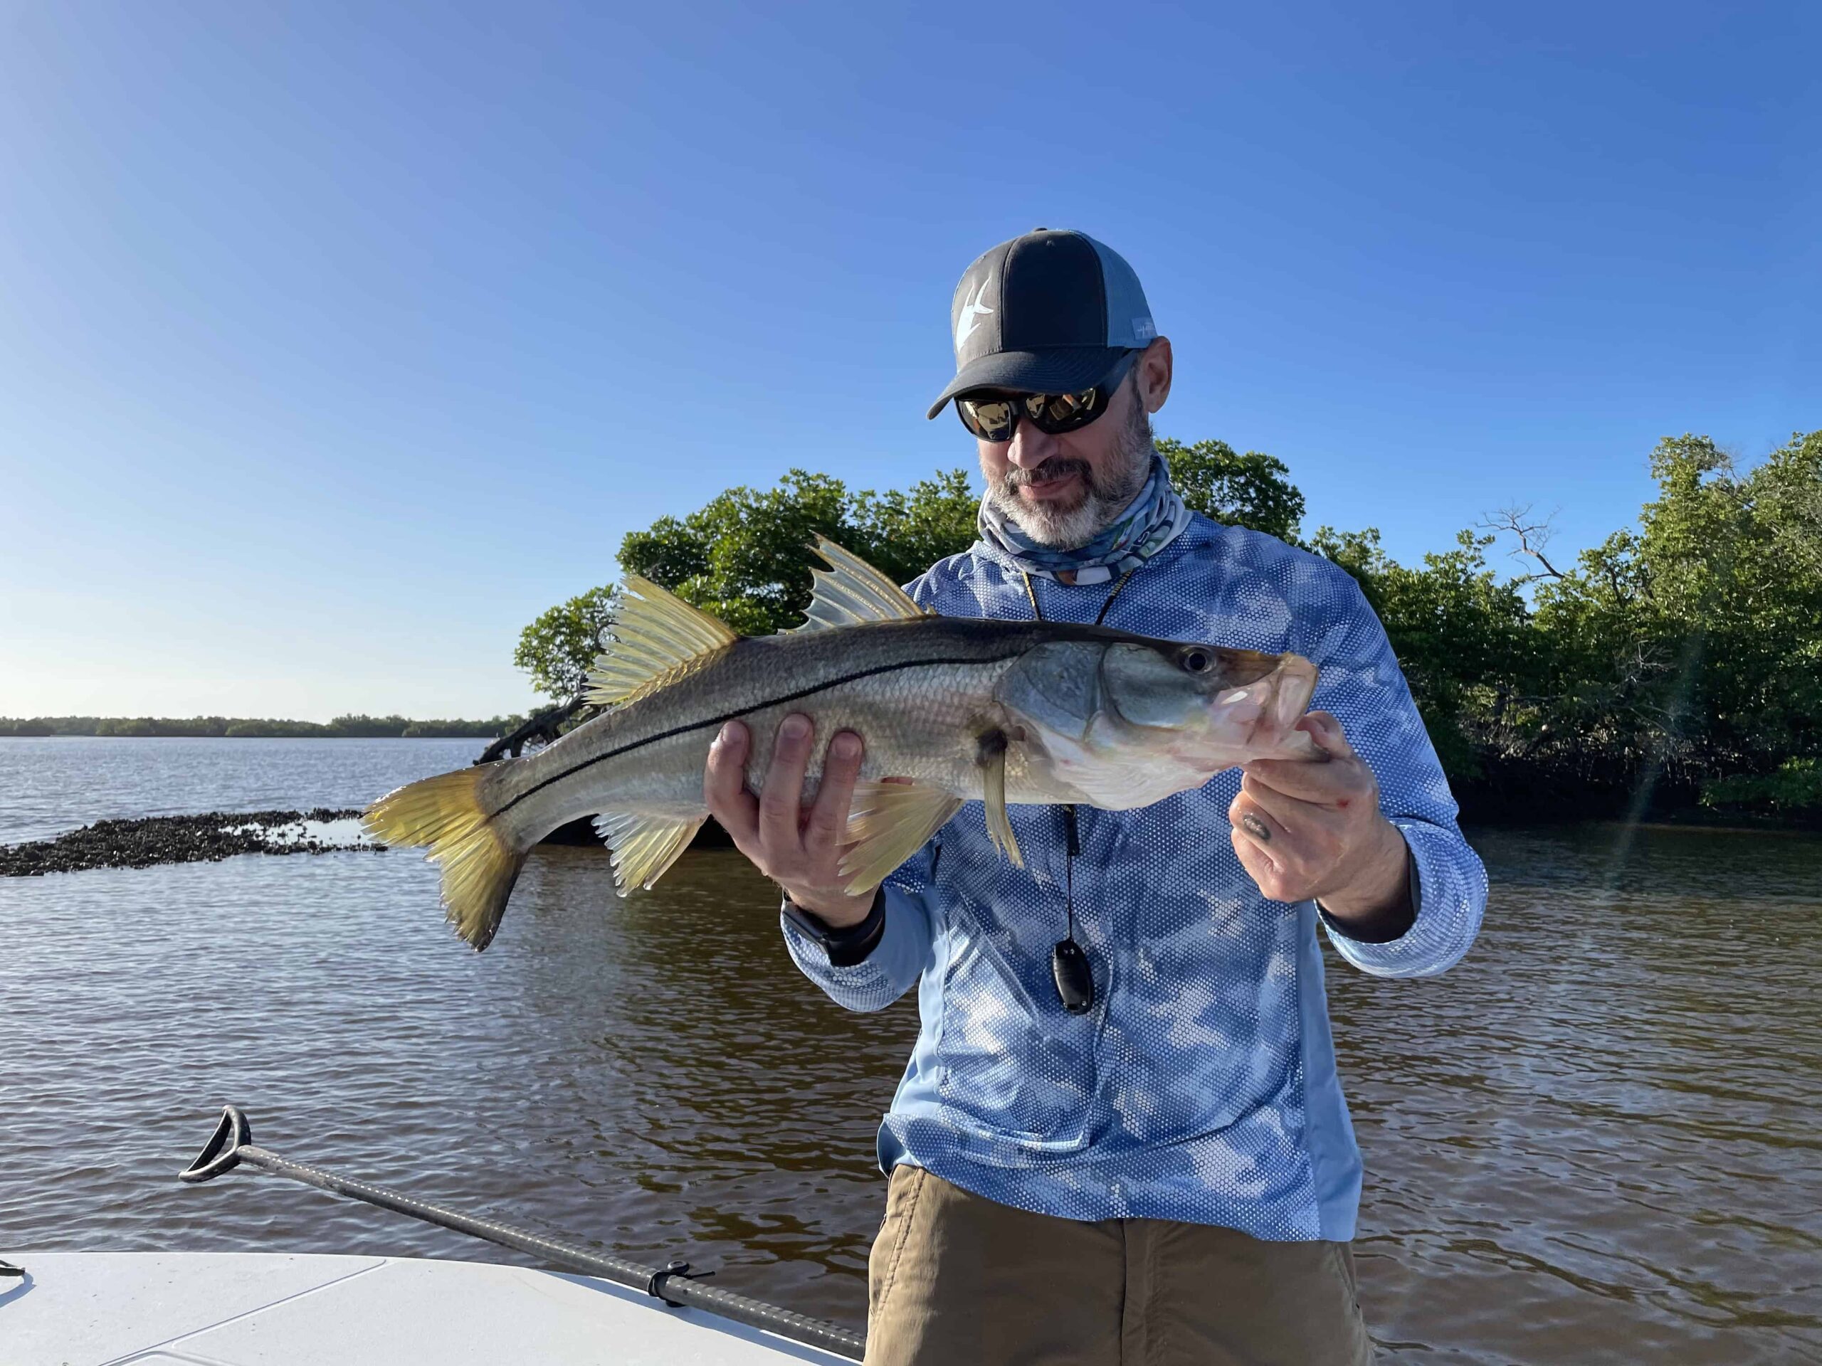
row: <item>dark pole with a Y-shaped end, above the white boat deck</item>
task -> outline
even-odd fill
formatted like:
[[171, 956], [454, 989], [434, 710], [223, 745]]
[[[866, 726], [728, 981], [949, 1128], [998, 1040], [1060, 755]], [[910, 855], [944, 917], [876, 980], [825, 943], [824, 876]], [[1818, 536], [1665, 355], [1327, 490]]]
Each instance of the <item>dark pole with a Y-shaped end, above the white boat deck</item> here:
[[204, 1144], [197, 1160], [177, 1173], [177, 1178], [186, 1182], [204, 1182], [220, 1177], [224, 1171], [233, 1171], [242, 1164], [259, 1167], [261, 1171], [270, 1171], [275, 1177], [286, 1177], [288, 1180], [301, 1180], [304, 1186], [315, 1186], [319, 1191], [330, 1191], [332, 1195], [346, 1195], [350, 1200], [377, 1204], [381, 1209], [394, 1209], [401, 1215], [410, 1215], [412, 1218], [423, 1218], [426, 1224], [437, 1224], [439, 1228], [456, 1229], [457, 1233], [470, 1233], [477, 1239], [497, 1242], [501, 1248], [512, 1248], [516, 1251], [530, 1253], [532, 1257], [541, 1257], [547, 1262], [556, 1262], [558, 1266], [570, 1266], [578, 1271], [587, 1271], [589, 1275], [601, 1277], [603, 1280], [614, 1280], [621, 1286], [643, 1290], [647, 1295], [656, 1295], [670, 1306], [709, 1310], [723, 1319], [732, 1319], [734, 1322], [742, 1322], [751, 1328], [763, 1328], [769, 1333], [778, 1333], [778, 1337], [789, 1337], [793, 1342], [824, 1348], [825, 1351], [834, 1351], [836, 1355], [849, 1357], [851, 1361], [860, 1361], [865, 1353], [867, 1339], [862, 1333], [855, 1333], [853, 1330], [831, 1324], [824, 1319], [811, 1319], [809, 1315], [794, 1313], [793, 1310], [782, 1310], [776, 1304], [767, 1304], [765, 1300], [747, 1299], [745, 1295], [736, 1295], [731, 1290], [703, 1286], [694, 1277], [709, 1273], [692, 1271], [689, 1262], [670, 1262], [660, 1269], [654, 1266], [627, 1262], [619, 1257], [605, 1257], [601, 1253], [589, 1251], [587, 1248], [576, 1248], [568, 1242], [558, 1242], [556, 1239], [545, 1239], [537, 1233], [510, 1228], [508, 1224], [496, 1224], [490, 1218], [476, 1218], [474, 1215], [461, 1213], [459, 1209], [446, 1209], [445, 1206], [414, 1200], [399, 1191], [388, 1191], [384, 1186], [368, 1186], [366, 1182], [348, 1180], [346, 1177], [337, 1177], [335, 1173], [322, 1171], [321, 1167], [306, 1167], [301, 1162], [290, 1162], [277, 1153], [266, 1151], [264, 1147], [255, 1147], [251, 1138], [253, 1127], [248, 1124], [241, 1107], [224, 1106], [220, 1122], [215, 1126], [215, 1133], [210, 1137], [208, 1144]]

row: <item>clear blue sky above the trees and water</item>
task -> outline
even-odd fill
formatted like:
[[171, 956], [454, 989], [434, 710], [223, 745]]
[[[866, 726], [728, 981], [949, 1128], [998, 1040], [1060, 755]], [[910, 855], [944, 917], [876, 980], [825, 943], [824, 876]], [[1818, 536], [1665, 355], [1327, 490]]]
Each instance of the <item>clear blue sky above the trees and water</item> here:
[[973, 468], [949, 297], [1035, 226], [1305, 530], [1596, 545], [1660, 437], [1822, 428], [1817, 51], [1807, 2], [0, 0], [0, 716], [523, 708], [625, 532]]

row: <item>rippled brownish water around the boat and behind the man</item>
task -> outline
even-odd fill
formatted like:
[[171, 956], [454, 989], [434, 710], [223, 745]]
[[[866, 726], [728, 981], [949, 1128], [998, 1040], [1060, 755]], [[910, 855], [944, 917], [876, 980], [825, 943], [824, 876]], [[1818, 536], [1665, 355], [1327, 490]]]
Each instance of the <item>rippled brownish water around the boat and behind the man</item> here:
[[[0, 841], [124, 790], [353, 805], [472, 749], [0, 739]], [[1489, 923], [1441, 978], [1330, 956], [1385, 1362], [1822, 1362], [1822, 840], [1618, 843], [1479, 832]], [[505, 1255], [251, 1173], [179, 1186], [233, 1100], [282, 1155], [862, 1322], [909, 1002], [829, 1004], [732, 852], [621, 903], [599, 852], [539, 851], [479, 956], [434, 907], [399, 852], [0, 882], [0, 1248]]]

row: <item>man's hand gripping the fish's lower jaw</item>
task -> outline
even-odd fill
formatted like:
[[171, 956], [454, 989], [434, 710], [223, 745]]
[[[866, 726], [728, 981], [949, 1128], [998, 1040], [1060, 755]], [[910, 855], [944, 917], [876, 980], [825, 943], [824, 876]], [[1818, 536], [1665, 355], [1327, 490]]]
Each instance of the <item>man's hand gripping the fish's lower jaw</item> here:
[[1341, 923], [1405, 903], [1405, 836], [1379, 814], [1379, 783], [1328, 712], [1297, 721], [1328, 763], [1255, 759], [1228, 807], [1233, 852], [1274, 902], [1319, 898]]

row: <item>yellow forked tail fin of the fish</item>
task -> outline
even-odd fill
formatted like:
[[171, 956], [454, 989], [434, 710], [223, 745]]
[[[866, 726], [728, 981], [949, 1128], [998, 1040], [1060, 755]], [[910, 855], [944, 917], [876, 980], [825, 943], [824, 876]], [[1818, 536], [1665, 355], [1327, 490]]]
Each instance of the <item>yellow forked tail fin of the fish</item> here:
[[443, 911], [476, 951], [499, 929], [527, 854], [481, 800], [490, 769], [425, 778], [388, 792], [361, 816], [363, 829], [384, 845], [430, 849], [425, 858], [443, 869]]

